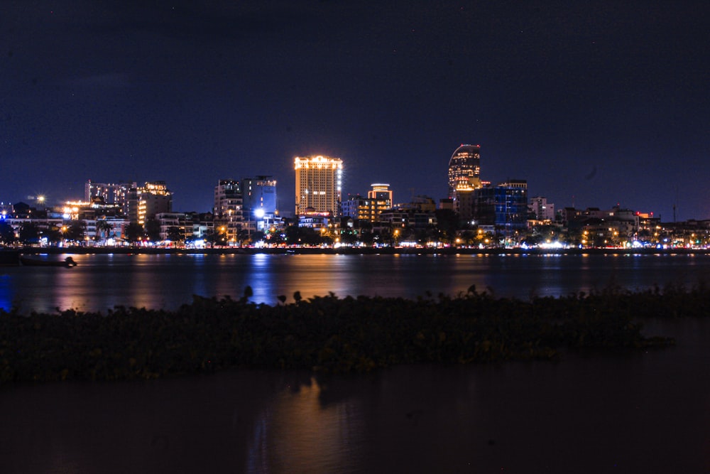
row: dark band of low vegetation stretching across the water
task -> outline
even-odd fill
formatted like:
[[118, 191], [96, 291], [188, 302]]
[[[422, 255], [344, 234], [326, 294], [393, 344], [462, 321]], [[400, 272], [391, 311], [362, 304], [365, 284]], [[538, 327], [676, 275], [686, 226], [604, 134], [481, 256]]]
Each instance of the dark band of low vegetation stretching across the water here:
[[560, 298], [476, 291], [416, 299], [300, 293], [275, 306], [202, 298], [176, 311], [0, 310], [0, 383], [152, 379], [229, 368], [366, 372], [413, 363], [554, 359], [562, 350], [648, 348], [645, 317], [704, 316], [710, 289], [606, 289]]

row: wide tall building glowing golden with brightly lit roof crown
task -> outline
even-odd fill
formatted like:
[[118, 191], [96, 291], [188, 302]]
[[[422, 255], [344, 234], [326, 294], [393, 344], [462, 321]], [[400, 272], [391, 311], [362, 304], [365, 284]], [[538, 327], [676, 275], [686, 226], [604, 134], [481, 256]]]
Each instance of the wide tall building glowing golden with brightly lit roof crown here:
[[343, 161], [328, 156], [297, 156], [293, 162], [296, 171], [296, 215], [304, 214], [307, 208], [338, 215]]

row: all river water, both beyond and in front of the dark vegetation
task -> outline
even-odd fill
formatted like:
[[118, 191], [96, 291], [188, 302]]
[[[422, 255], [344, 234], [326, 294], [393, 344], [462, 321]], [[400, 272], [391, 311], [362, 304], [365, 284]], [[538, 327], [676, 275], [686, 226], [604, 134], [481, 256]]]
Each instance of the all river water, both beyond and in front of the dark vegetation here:
[[[566, 294], [707, 281], [706, 256], [78, 256], [0, 269], [24, 308], [416, 296], [471, 284]], [[710, 472], [710, 321], [655, 321], [677, 345], [559, 362], [395, 367], [316, 379], [235, 371], [0, 387], [0, 473]]]

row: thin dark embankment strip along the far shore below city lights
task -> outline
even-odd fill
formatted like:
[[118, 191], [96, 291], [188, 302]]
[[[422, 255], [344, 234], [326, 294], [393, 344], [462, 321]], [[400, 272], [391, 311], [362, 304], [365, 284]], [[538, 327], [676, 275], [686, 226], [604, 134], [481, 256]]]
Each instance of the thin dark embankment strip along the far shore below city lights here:
[[351, 248], [320, 247], [253, 248], [212, 247], [207, 249], [157, 249], [146, 247], [21, 247], [14, 249], [21, 254], [329, 254], [329, 255], [692, 255], [710, 254], [710, 249], [461, 249], [461, 248]]

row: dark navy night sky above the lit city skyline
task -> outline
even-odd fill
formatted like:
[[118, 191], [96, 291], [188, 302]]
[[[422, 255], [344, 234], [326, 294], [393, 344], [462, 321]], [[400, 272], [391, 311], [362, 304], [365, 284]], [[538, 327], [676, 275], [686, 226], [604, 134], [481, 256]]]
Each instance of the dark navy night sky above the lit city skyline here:
[[710, 218], [706, 0], [201, 3], [0, 0], [0, 200], [267, 174], [293, 212], [306, 154], [438, 200], [469, 143], [557, 208]]

